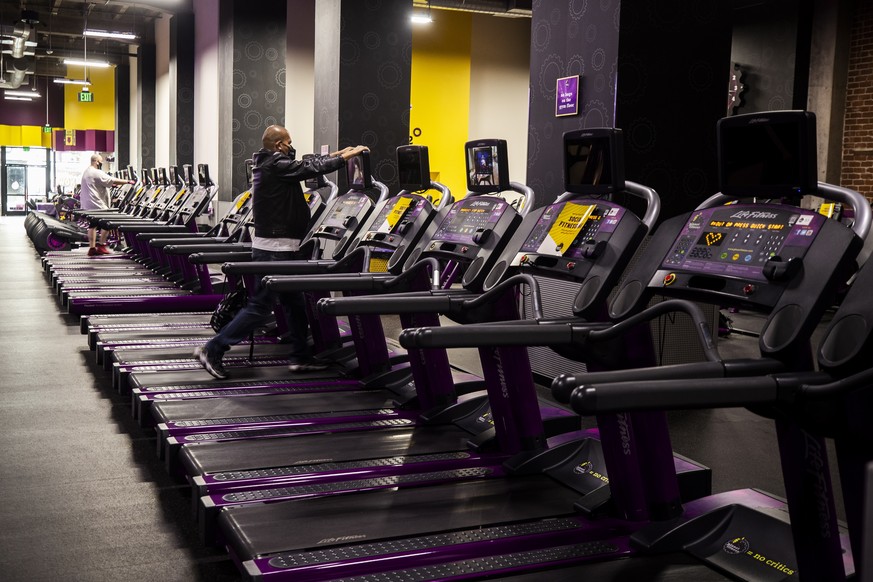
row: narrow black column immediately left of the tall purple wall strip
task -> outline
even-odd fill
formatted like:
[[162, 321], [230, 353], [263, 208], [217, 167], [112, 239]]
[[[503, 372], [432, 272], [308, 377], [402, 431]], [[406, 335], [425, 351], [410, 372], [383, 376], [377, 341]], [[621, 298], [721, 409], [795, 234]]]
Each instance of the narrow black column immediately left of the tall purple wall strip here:
[[170, 20], [170, 160], [194, 163], [194, 15]]

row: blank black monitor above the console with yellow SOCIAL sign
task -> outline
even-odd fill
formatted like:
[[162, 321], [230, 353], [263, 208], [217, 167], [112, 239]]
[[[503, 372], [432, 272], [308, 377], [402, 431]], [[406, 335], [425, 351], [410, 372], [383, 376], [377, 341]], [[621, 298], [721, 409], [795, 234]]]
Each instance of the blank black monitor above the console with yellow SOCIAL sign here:
[[601, 127], [564, 134], [564, 190], [594, 195], [624, 190], [620, 129]]

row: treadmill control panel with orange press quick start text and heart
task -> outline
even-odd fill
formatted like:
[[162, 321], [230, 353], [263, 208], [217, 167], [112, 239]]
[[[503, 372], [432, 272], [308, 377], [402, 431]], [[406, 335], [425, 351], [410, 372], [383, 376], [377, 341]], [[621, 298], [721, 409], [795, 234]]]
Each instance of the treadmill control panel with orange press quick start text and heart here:
[[764, 264], [802, 257], [822, 224], [821, 214], [782, 206], [728, 205], [694, 212], [662, 263], [692, 271], [764, 281]]

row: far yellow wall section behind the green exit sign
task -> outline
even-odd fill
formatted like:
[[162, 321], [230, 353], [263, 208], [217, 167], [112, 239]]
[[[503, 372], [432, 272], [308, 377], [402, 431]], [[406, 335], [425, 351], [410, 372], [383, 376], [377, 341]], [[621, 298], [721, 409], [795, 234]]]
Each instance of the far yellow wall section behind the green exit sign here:
[[[81, 79], [82, 67], [67, 67], [67, 77]], [[105, 129], [115, 131], [115, 67], [88, 69], [94, 101], [79, 102], [80, 85], [64, 85], [65, 129]]]

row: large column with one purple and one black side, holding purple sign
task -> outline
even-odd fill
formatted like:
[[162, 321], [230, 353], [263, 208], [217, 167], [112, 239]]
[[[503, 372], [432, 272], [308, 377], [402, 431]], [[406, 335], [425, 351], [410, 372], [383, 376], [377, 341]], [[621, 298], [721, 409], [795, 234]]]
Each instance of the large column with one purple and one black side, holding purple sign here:
[[[624, 131], [627, 177], [658, 191], [662, 217], [715, 192], [715, 123], [726, 112], [730, 59], [722, 4], [534, 3], [528, 183], [540, 203], [562, 191], [561, 134], [597, 126]], [[577, 74], [579, 112], [556, 117], [556, 81]]]

